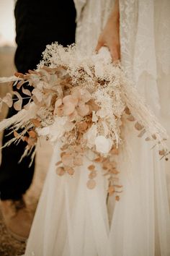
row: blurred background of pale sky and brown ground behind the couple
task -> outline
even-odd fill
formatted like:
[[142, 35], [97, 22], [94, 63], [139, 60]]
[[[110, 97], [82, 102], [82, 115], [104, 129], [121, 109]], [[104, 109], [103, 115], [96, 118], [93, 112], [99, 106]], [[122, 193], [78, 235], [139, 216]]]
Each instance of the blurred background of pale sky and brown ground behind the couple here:
[[[14, 53], [16, 50], [14, 3], [14, 0], [0, 0], [0, 77], [12, 76], [16, 71], [14, 67]], [[4, 97], [11, 90], [11, 85], [7, 83], [0, 84], [0, 97]], [[0, 113], [0, 120], [4, 119], [7, 111], [7, 107], [3, 106]], [[35, 176], [32, 186], [25, 196], [27, 205], [33, 212], [35, 212], [40, 197], [42, 184], [48, 171], [50, 155], [52, 153], [52, 147], [48, 142], [42, 140], [40, 144], [37, 150]], [[9, 159], [6, 159], [6, 161], [9, 161]], [[17, 242], [8, 233], [1, 218], [0, 211], [0, 256], [22, 255], [24, 253], [24, 247], [25, 244], [23, 242]]]

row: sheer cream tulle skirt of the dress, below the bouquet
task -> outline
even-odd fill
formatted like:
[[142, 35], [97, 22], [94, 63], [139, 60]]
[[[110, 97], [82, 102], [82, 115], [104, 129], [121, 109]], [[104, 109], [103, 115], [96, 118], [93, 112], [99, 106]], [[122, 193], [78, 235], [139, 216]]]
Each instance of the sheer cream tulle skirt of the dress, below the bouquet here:
[[97, 187], [88, 189], [87, 166], [58, 176], [56, 146], [27, 242], [26, 256], [169, 256], [170, 216], [164, 160], [132, 124], [117, 157], [122, 193], [109, 197], [97, 168]]

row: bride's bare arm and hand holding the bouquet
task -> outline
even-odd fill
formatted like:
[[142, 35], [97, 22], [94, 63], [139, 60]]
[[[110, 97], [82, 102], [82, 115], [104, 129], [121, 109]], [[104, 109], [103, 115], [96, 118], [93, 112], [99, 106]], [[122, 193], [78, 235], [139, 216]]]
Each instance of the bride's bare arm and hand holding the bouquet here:
[[109, 48], [110, 54], [112, 55], [113, 61], [120, 59], [120, 11], [119, 11], [119, 0], [115, 0], [112, 12], [109, 15], [107, 24], [104, 27], [99, 40], [97, 43], [96, 51], [102, 46]]

